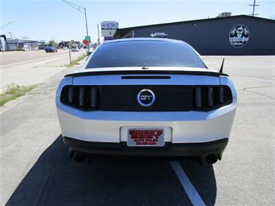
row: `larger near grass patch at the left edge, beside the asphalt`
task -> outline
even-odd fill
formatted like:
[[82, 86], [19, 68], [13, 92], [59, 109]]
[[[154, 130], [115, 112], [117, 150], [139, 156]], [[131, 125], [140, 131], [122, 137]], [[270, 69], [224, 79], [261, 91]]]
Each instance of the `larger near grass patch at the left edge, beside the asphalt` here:
[[32, 91], [36, 85], [20, 86], [18, 84], [8, 84], [5, 86], [3, 93], [0, 93], [0, 106], [6, 102], [19, 98]]

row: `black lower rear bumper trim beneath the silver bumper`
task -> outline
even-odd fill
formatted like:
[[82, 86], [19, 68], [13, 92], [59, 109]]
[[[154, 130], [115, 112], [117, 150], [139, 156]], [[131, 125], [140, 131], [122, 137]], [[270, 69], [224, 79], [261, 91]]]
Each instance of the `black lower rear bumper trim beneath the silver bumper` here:
[[223, 150], [228, 144], [228, 138], [204, 143], [173, 144], [166, 142], [162, 148], [155, 147], [129, 147], [126, 142], [103, 143], [81, 141], [70, 137], [63, 137], [63, 141], [69, 147], [69, 152], [77, 152], [89, 157], [92, 155], [118, 155], [131, 157], [199, 157], [204, 159], [207, 155], [218, 154], [221, 159]]

